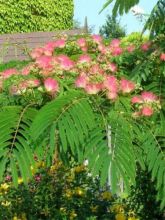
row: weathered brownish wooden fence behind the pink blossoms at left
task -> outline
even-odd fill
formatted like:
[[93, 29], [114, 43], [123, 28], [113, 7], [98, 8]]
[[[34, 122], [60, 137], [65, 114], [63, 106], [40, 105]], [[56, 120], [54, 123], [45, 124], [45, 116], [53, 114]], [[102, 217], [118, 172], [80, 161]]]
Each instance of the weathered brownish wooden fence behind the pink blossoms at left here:
[[55, 32], [33, 32], [0, 35], [0, 62], [29, 59], [28, 51], [57, 39], [59, 35], [68, 36], [87, 33], [87, 26], [82, 29]]

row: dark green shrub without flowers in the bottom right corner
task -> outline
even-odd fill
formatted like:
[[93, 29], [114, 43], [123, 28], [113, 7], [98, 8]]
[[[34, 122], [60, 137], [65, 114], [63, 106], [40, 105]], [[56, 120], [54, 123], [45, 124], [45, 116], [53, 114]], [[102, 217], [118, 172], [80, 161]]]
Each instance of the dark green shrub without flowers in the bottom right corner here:
[[131, 188], [130, 196], [123, 201], [130, 210], [134, 211], [140, 219], [163, 220], [163, 211], [156, 200], [155, 182], [151, 180], [151, 174], [146, 170], [137, 170], [136, 186]]

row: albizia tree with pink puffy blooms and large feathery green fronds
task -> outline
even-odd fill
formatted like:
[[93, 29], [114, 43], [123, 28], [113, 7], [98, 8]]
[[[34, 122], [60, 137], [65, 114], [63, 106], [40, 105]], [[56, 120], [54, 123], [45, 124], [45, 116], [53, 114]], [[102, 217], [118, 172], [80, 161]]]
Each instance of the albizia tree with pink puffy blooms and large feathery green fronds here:
[[[0, 180], [32, 178], [35, 159], [88, 160], [112, 192], [129, 192], [147, 168], [165, 205], [164, 52], [155, 42], [62, 38], [0, 73]], [[144, 65], [144, 61], [145, 63]]]

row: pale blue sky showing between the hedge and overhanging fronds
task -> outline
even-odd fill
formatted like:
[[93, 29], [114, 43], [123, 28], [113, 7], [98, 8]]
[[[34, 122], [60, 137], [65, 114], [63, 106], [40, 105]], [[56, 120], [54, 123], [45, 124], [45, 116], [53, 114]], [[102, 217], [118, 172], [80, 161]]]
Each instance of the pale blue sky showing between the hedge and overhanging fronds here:
[[[87, 16], [88, 24], [95, 26], [94, 32], [98, 33], [99, 27], [105, 23], [106, 15], [111, 13], [112, 6], [109, 6], [101, 14], [100, 9], [106, 0], [74, 0], [75, 12], [74, 18], [84, 24], [84, 18]], [[156, 4], [157, 0], [141, 0], [139, 6], [149, 14]], [[126, 26], [127, 33], [141, 31], [143, 24], [129, 12], [120, 18], [122, 26]]]

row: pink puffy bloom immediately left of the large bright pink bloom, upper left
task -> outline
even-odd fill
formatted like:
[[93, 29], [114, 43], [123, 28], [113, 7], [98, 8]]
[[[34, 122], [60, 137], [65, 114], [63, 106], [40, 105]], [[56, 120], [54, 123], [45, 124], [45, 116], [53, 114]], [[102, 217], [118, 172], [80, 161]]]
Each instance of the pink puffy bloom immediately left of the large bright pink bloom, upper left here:
[[53, 68], [52, 65], [52, 57], [50, 56], [41, 56], [39, 58], [36, 59], [36, 64], [38, 65], [39, 68], [41, 69], [50, 69]]

